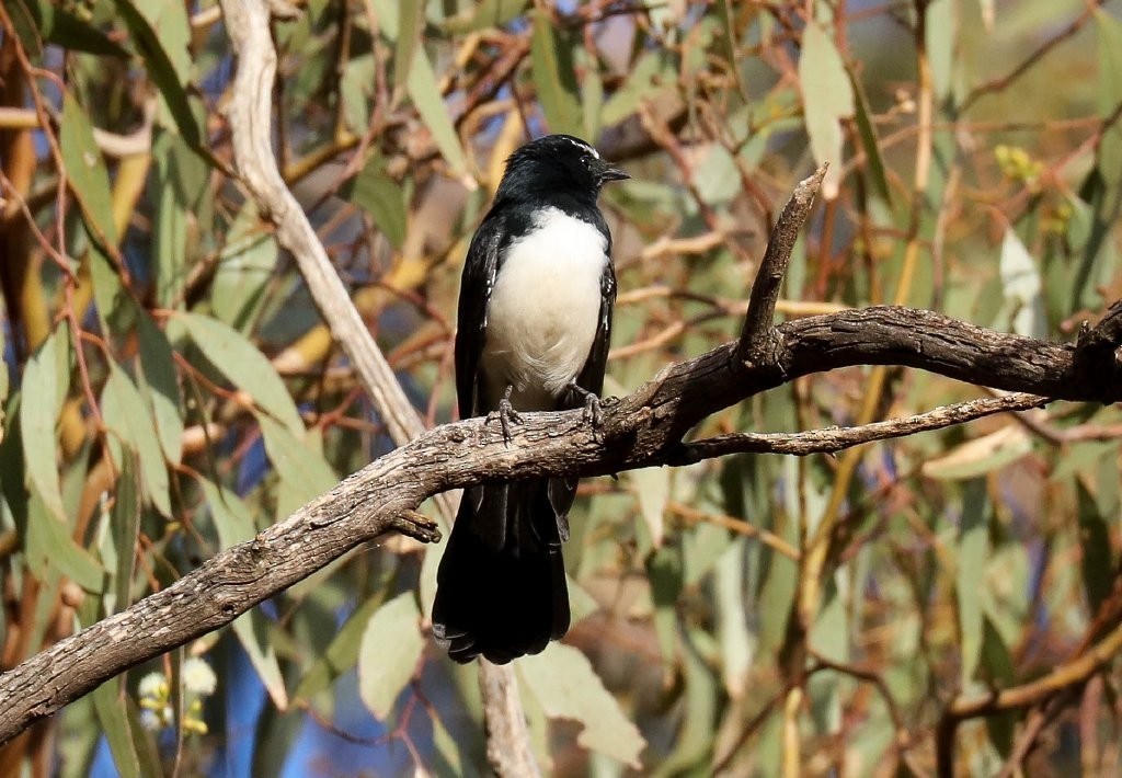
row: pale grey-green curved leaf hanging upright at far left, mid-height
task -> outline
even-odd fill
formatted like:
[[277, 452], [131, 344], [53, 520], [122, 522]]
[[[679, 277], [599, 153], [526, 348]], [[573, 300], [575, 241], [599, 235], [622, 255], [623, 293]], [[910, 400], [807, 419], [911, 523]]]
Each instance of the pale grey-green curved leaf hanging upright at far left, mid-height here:
[[62, 399], [68, 388], [70, 339], [63, 327], [65, 323], [59, 323], [27, 360], [19, 404], [27, 478], [58, 521], [66, 521], [58, 465], [55, 460], [58, 443], [55, 423]]

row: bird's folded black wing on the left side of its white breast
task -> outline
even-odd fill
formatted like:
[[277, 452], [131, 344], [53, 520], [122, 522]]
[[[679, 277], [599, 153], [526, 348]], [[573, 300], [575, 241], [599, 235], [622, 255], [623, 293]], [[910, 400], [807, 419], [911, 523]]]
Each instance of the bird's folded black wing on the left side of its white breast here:
[[471, 238], [463, 263], [456, 328], [456, 395], [461, 419], [489, 410], [479, 406], [479, 358], [487, 330], [487, 302], [498, 276], [503, 234], [502, 220], [484, 219]]

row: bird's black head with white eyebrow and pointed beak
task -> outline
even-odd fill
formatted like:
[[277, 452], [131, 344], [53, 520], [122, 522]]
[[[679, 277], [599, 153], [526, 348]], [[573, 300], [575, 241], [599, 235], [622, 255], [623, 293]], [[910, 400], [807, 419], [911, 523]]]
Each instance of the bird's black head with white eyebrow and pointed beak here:
[[592, 146], [571, 135], [531, 140], [506, 161], [496, 200], [526, 200], [554, 194], [591, 198], [609, 181], [631, 176], [600, 158]]

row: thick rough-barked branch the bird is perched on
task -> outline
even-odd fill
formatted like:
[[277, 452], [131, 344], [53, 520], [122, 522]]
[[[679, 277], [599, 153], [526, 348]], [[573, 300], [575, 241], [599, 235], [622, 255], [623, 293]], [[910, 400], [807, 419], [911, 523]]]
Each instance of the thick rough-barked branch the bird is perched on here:
[[0, 676], [0, 741], [118, 672], [230, 623], [381, 532], [434, 538], [434, 528], [403, 519], [434, 494], [485, 480], [662, 465], [707, 415], [797, 376], [896, 364], [1051, 400], [1122, 400], [1122, 383], [1103, 379], [1118, 373], [1116, 349], [1097, 349], [1094, 364], [1072, 345], [993, 332], [931, 311], [843, 311], [787, 322], [778, 331], [773, 360], [745, 365], [736, 358], [736, 341], [719, 346], [606, 403], [596, 430], [577, 410], [524, 414], [509, 443], [482, 419], [425, 432], [252, 541]]

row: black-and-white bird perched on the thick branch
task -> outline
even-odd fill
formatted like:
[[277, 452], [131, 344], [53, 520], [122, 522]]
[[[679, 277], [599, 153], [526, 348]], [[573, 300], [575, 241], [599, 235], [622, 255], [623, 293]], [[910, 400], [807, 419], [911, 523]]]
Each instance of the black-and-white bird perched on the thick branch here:
[[[628, 179], [590, 144], [549, 135], [508, 158], [460, 281], [456, 390], [461, 418], [583, 406], [599, 395], [616, 298], [611, 234], [597, 198]], [[561, 544], [574, 478], [465, 491], [436, 573], [433, 635], [457, 662], [540, 653], [569, 630]]]

